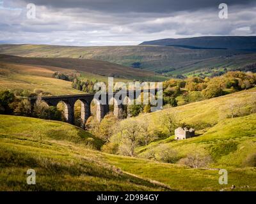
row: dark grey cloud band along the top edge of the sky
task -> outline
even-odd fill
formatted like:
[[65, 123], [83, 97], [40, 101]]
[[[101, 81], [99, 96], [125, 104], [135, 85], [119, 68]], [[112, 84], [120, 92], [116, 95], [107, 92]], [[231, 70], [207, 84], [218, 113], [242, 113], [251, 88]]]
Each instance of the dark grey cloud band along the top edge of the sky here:
[[139, 13], [169, 13], [173, 11], [202, 10], [218, 8], [220, 3], [229, 6], [240, 4], [245, 6], [255, 0], [24, 0], [52, 8], [84, 8], [87, 10], [111, 13], [139, 12]]

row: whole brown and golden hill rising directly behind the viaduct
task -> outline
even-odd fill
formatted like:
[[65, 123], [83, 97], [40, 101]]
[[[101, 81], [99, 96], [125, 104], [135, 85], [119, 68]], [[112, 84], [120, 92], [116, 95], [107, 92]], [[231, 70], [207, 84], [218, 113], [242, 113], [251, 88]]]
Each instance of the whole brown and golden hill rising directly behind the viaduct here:
[[[109, 62], [86, 59], [31, 58], [0, 55], [0, 91], [36, 89], [52, 95], [83, 94], [72, 88], [72, 82], [53, 78], [54, 72], [66, 75], [78, 73], [81, 80], [108, 82], [107, 76], [114, 76], [115, 82], [136, 80], [165, 80], [166, 77], [150, 71], [140, 71]], [[124, 77], [124, 78], [118, 78]]]

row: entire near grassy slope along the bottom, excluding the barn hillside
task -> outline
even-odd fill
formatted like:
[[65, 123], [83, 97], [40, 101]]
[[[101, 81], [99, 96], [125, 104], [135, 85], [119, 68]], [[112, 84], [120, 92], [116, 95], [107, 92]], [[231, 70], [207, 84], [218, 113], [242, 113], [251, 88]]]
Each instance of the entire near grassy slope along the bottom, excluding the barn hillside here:
[[[0, 115], [0, 190], [18, 191], [237, 191], [256, 190], [255, 168], [231, 168], [228, 185], [218, 170], [192, 169], [104, 154], [101, 141], [63, 122]], [[36, 185], [26, 171], [36, 171]], [[244, 186], [249, 186], [244, 188]]]

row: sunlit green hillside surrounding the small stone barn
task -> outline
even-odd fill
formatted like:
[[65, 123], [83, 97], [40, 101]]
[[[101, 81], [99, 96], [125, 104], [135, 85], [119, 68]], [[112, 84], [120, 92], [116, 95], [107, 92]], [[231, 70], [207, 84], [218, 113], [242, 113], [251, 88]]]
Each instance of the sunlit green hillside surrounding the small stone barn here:
[[[196, 150], [206, 151], [214, 157], [214, 168], [217, 166], [241, 168], [246, 157], [256, 152], [255, 100], [256, 88], [253, 88], [219, 98], [167, 108], [161, 112], [141, 115], [137, 119], [145, 120], [147, 118], [149, 131], [168, 134], [168, 130], [162, 128], [159, 121], [164, 118], [164, 114], [175, 113], [175, 118], [180, 123], [195, 128], [196, 134], [199, 136], [179, 142], [174, 141], [174, 137], [170, 136], [165, 140], [150, 143], [147, 147], [138, 148], [138, 155], [145, 156], [148, 150], [157, 150], [160, 145], [166, 144], [171, 149], [177, 150], [179, 157], [184, 157], [189, 152]], [[240, 114], [239, 117], [227, 117], [231, 112], [231, 106], [236, 107], [236, 112]], [[228, 145], [234, 145], [234, 149], [225, 152]]]

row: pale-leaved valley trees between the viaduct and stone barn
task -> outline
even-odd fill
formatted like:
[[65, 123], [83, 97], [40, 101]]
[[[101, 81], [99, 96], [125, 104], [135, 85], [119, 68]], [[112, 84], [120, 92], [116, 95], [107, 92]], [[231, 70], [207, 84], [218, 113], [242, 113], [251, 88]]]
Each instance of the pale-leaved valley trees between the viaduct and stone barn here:
[[136, 156], [136, 147], [147, 146], [154, 140], [173, 135], [175, 128], [180, 125], [174, 113], [164, 113], [159, 120], [159, 124], [166, 133], [163, 134], [163, 132], [150, 128], [148, 120], [147, 117], [143, 120], [136, 118], [118, 120], [112, 113], [109, 113], [101, 122], [97, 122], [93, 116], [90, 117], [86, 123], [86, 128], [105, 142], [102, 151]]

